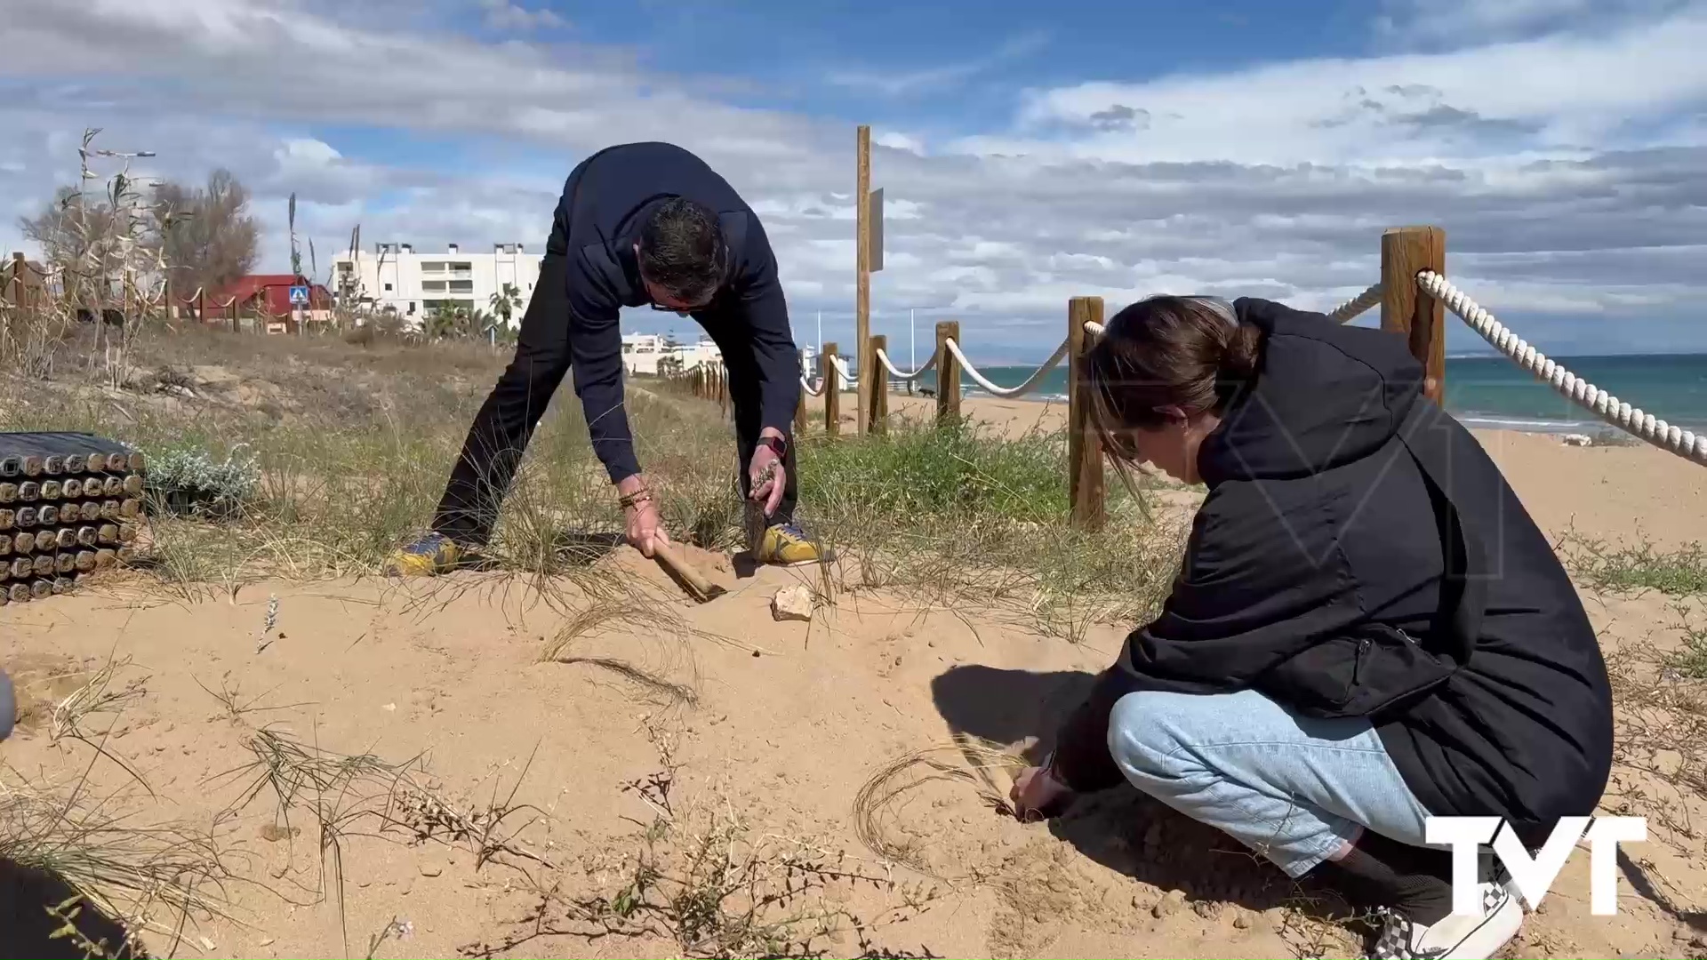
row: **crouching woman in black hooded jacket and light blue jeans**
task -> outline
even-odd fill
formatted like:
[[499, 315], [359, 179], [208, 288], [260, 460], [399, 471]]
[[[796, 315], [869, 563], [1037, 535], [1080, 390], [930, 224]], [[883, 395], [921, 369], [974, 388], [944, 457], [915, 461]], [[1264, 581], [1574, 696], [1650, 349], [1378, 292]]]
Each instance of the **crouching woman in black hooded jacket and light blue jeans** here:
[[1154, 297], [1087, 359], [1104, 449], [1209, 487], [1161, 615], [1014, 786], [1022, 817], [1130, 782], [1384, 917], [1374, 957], [1480, 960], [1523, 922], [1483, 869], [1451, 912], [1427, 817], [1540, 847], [1591, 815], [1611, 694], [1570, 581], [1401, 338]]

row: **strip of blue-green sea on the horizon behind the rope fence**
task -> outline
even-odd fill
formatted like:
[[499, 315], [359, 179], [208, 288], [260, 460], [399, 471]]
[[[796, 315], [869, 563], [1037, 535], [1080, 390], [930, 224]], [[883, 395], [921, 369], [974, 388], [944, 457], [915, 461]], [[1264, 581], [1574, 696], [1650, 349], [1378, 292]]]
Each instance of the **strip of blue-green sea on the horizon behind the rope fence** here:
[[[1707, 354], [1553, 357], [1553, 360], [1630, 407], [1640, 407], [1644, 413], [1688, 430], [1707, 430]], [[1036, 367], [978, 369], [990, 383], [1002, 388], [1024, 383], [1034, 371]], [[929, 371], [920, 383], [935, 389], [934, 378], [935, 371]], [[988, 396], [988, 391], [963, 372], [961, 396]], [[1065, 401], [1067, 366], [1050, 371], [1024, 400]], [[1582, 434], [1611, 429], [1506, 357], [1448, 357], [1446, 408], [1466, 427]]]

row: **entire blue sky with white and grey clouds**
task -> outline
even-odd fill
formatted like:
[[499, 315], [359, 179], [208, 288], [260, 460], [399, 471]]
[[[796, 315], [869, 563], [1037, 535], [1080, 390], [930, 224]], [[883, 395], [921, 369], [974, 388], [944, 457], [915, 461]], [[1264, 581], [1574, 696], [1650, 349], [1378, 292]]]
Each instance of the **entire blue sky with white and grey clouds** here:
[[[795, 338], [821, 316], [847, 345], [867, 123], [896, 357], [915, 316], [920, 352], [958, 319], [975, 360], [1040, 360], [1072, 296], [1325, 309], [1405, 224], [1444, 227], [1448, 275], [1550, 355], [1707, 352], [1707, 0], [0, 0], [0, 251], [85, 128], [155, 152], [143, 176], [234, 171], [261, 272], [288, 270], [295, 191], [323, 275], [357, 224], [543, 251], [577, 161], [669, 140], [760, 214]], [[1454, 323], [1448, 348], [1485, 345]]]

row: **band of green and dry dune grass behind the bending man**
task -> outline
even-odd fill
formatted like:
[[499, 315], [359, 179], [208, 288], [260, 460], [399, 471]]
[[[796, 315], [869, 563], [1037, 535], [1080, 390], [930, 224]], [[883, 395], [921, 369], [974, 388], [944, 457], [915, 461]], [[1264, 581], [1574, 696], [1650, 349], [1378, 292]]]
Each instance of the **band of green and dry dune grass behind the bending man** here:
[[[51, 352], [77, 371], [97, 331], [70, 326]], [[0, 429], [90, 430], [174, 461], [253, 463], [241, 516], [154, 518], [152, 572], [174, 591], [230, 591], [259, 577], [376, 574], [434, 514], [469, 422], [509, 357], [480, 343], [256, 337], [152, 321], [131, 333], [118, 388], [65, 372], [0, 376]], [[732, 427], [714, 403], [637, 378], [626, 412], [673, 536], [741, 548]], [[1077, 635], [1154, 610], [1173, 577], [1180, 524], [1111, 494], [1098, 533], [1067, 523], [1065, 437], [1002, 437], [973, 424], [896, 422], [886, 436], [801, 437], [799, 518], [857, 565], [824, 589], [893, 589], [922, 603], [1019, 613]], [[621, 512], [565, 383], [541, 419], [485, 557], [560, 589], [609, 589], [597, 552]]]

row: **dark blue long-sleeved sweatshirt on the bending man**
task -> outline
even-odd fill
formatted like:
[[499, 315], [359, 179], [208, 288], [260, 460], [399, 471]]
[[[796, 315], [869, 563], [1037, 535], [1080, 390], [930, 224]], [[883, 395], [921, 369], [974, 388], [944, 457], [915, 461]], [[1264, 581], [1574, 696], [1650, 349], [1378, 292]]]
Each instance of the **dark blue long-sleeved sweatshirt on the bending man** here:
[[777, 280], [770, 239], [753, 208], [705, 161], [681, 147], [606, 147], [570, 171], [546, 256], [567, 261], [575, 396], [587, 415], [592, 449], [611, 482], [640, 473], [623, 410], [623, 345], [616, 318], [620, 307], [652, 302], [640, 282], [635, 243], [657, 203], [671, 196], [696, 200], [719, 214], [729, 249], [727, 272], [717, 296], [693, 319], [717, 340], [732, 372], [758, 378], [761, 427], [789, 436], [801, 396], [789, 304]]

